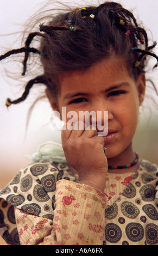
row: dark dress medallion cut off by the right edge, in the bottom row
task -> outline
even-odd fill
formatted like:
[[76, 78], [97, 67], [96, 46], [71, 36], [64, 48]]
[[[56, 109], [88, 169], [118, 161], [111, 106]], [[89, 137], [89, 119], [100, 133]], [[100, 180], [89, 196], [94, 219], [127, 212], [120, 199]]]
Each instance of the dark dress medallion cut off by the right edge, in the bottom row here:
[[158, 226], [155, 224], [148, 224], [146, 227], [147, 243], [149, 245], [157, 245], [158, 243]]

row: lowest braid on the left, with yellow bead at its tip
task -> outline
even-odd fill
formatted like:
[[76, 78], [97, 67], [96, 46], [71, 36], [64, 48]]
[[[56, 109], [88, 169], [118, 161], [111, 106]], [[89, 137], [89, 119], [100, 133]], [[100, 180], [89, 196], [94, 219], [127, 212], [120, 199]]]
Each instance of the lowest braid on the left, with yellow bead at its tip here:
[[31, 89], [31, 87], [33, 87], [33, 85], [35, 83], [44, 83], [44, 84], [47, 84], [46, 82], [46, 77], [45, 76], [37, 76], [35, 77], [34, 79], [30, 80], [27, 85], [26, 85], [26, 88], [24, 90], [24, 93], [22, 94], [22, 96], [20, 98], [18, 98], [17, 100], [14, 100], [14, 101], [11, 101], [10, 99], [7, 99], [6, 100], [6, 106], [9, 107], [11, 104], [17, 104], [17, 103], [20, 103], [24, 100], [26, 100], [28, 94], [29, 94], [29, 91]]

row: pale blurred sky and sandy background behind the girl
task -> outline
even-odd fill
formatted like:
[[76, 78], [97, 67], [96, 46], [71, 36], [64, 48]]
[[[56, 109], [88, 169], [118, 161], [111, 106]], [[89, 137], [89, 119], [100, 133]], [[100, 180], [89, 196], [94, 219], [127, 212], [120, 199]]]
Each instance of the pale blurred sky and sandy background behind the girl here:
[[[51, 1], [50, 1], [51, 2]], [[67, 1], [72, 3], [73, 1]], [[86, 3], [98, 4], [98, 1], [78, 1], [84, 7]], [[103, 3], [104, 1], [100, 1]], [[157, 32], [157, 0], [118, 0], [123, 7], [132, 10], [144, 28], [149, 38], [158, 42]], [[47, 1], [42, 0], [1, 0], [0, 8], [0, 54], [13, 48], [22, 47], [21, 33], [23, 25], [35, 14]], [[62, 3], [66, 1], [62, 0]], [[158, 48], [155, 49], [158, 54]], [[24, 156], [31, 155], [37, 151], [40, 144], [47, 141], [61, 142], [60, 131], [52, 131], [50, 123], [52, 109], [47, 99], [37, 101], [34, 108], [31, 108], [34, 99], [44, 92], [45, 87], [41, 86], [38, 93], [36, 86], [31, 89], [27, 100], [19, 105], [12, 105], [7, 109], [5, 100], [7, 97], [17, 99], [23, 93], [23, 84], [28, 77], [18, 79], [22, 72], [22, 64], [18, 63], [18, 56], [8, 58], [0, 63], [0, 188], [14, 178], [21, 167], [30, 161]], [[157, 84], [157, 70], [153, 66], [156, 60], [152, 58], [149, 62], [147, 79]], [[19, 74], [15, 75], [18, 71]], [[14, 79], [12, 79], [14, 77]], [[34, 76], [33, 76], [34, 77]], [[157, 89], [158, 90], [158, 89]], [[146, 100], [140, 109], [140, 123], [134, 138], [134, 149], [140, 153], [140, 157], [158, 164], [158, 96], [150, 81], [147, 81]], [[3, 244], [0, 240], [0, 245]]]

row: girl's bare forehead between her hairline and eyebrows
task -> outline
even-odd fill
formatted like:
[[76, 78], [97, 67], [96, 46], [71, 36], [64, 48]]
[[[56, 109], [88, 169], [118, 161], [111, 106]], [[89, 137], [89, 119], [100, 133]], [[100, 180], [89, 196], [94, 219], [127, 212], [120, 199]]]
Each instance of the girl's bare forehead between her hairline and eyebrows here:
[[60, 96], [68, 90], [110, 86], [122, 80], [132, 79], [122, 58], [103, 59], [86, 70], [68, 71], [59, 76]]

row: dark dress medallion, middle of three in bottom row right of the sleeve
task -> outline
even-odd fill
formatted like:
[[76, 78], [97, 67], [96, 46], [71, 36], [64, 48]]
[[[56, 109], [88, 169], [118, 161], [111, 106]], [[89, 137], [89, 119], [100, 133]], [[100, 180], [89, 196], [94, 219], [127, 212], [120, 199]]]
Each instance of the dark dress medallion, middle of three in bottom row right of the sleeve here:
[[138, 242], [143, 239], [144, 229], [141, 224], [131, 222], [125, 228], [127, 237], [132, 242]]

